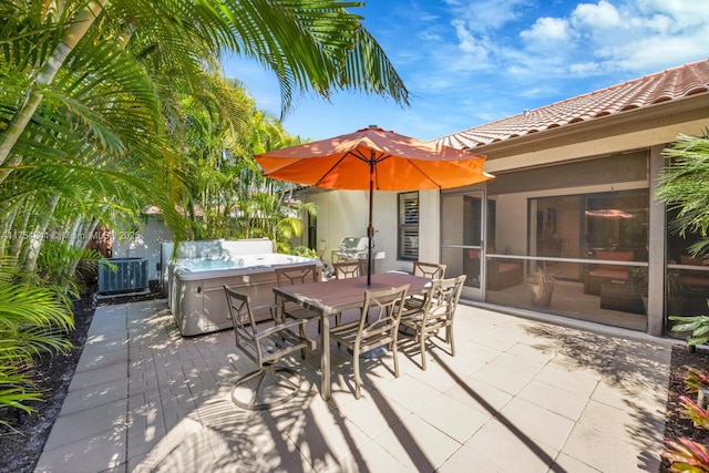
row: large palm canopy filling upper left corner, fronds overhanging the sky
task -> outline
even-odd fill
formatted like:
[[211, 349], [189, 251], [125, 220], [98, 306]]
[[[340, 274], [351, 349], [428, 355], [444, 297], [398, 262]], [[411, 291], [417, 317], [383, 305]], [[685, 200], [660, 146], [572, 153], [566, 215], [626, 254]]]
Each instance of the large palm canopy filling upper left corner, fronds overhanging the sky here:
[[[116, 212], [134, 215], [136, 205], [150, 202], [179, 239], [185, 226], [174, 197], [191, 176], [167, 138], [181, 130], [174, 104], [188, 95], [223, 116], [238, 110], [223, 93], [222, 54], [235, 52], [270, 68], [281, 85], [284, 111], [299, 91], [328, 96], [360, 89], [405, 103], [408, 91], [386, 54], [361, 18], [345, 10], [358, 6], [325, 0], [0, 3], [0, 183], [21, 169], [48, 166], [55, 166], [53, 183], [72, 184], [74, 174], [95, 173], [105, 163], [119, 169], [114, 185], [94, 182], [84, 199], [55, 189], [44, 196], [41, 214], [24, 218], [19, 213], [6, 226], [27, 222], [19, 232], [32, 237], [9, 246], [21, 248], [23, 265], [32, 270], [55, 208], [66, 199], [122, 202], [111, 189], [116, 185], [136, 194], [137, 202], [90, 220], [110, 225]], [[245, 115], [233, 116], [238, 123]]]

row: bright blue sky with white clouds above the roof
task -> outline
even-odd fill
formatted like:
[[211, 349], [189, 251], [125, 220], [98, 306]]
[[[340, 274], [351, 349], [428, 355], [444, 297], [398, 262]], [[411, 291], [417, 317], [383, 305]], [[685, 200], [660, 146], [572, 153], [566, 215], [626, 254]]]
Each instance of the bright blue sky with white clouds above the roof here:
[[[320, 140], [370, 124], [433, 140], [709, 58], [707, 0], [368, 0], [351, 9], [411, 92], [305, 94], [287, 132]], [[273, 73], [228, 59], [257, 105], [280, 113]]]

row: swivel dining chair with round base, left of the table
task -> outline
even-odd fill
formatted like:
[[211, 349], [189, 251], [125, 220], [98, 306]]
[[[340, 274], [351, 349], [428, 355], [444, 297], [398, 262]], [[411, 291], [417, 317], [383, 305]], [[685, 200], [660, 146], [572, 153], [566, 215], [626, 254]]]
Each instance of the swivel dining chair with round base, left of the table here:
[[[234, 326], [236, 347], [251, 359], [258, 368], [239, 377], [232, 388], [232, 402], [243, 409], [260, 410], [280, 405], [298, 394], [300, 374], [291, 368], [276, 366], [284, 357], [300, 350], [305, 359], [306, 347], [315, 349], [315, 343], [296, 333], [302, 332], [304, 320], [291, 320], [263, 328], [256, 325], [254, 310], [270, 309], [274, 319], [275, 306], [251, 307], [250, 297], [224, 286], [229, 308], [229, 319]], [[254, 385], [255, 384], [255, 385]], [[250, 391], [250, 399], [244, 400], [238, 394]]]

